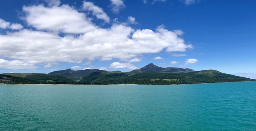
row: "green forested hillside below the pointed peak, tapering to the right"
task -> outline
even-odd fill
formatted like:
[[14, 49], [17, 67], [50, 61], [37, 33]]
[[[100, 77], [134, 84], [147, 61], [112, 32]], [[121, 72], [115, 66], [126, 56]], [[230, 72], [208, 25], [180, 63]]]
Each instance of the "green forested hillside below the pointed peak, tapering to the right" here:
[[249, 78], [233, 76], [218, 72], [217, 70], [203, 70], [188, 73], [144, 72], [134, 75], [129, 73], [92, 73], [84, 77], [81, 82], [92, 84], [196, 84], [214, 82], [254, 81]]

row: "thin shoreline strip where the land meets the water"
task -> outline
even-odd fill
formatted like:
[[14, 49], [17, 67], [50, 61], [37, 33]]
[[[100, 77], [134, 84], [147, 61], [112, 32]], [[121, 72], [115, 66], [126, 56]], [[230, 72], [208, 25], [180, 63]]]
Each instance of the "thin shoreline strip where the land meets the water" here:
[[[234, 81], [234, 82], [253, 82], [253, 81]], [[215, 83], [231, 83], [231, 82], [215, 82]], [[193, 84], [214, 84], [214, 83], [193, 83]], [[4, 84], [0, 85], [75, 85], [75, 84]], [[95, 84], [90, 84], [95, 85]], [[109, 84], [109, 85], [145, 85], [145, 84]], [[192, 85], [192, 84], [171, 84], [171, 85]]]

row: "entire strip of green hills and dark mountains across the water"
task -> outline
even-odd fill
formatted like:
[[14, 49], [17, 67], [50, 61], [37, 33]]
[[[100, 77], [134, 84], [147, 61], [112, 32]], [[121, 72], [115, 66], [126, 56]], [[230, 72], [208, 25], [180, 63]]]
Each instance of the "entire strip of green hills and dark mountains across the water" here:
[[41, 73], [7, 73], [0, 74], [0, 83], [4, 84], [75, 84], [75, 85], [109, 85], [109, 84], [200, 84], [215, 82], [256, 81], [250, 78], [221, 73], [217, 70], [183, 68], [161, 68], [150, 63], [131, 72], [107, 72], [105, 70], [59, 70], [49, 74]]

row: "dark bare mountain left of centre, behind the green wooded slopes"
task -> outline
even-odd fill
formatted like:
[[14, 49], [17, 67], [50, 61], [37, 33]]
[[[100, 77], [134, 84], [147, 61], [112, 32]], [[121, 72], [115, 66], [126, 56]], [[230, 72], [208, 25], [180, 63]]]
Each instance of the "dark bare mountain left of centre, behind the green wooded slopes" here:
[[106, 72], [105, 70], [99, 70], [99, 69], [86, 69], [86, 70], [58, 70], [55, 72], [49, 73], [50, 75], [56, 75], [56, 76], [64, 76], [67, 77], [73, 81], [80, 81], [83, 77], [88, 76], [91, 73], [94, 72]]

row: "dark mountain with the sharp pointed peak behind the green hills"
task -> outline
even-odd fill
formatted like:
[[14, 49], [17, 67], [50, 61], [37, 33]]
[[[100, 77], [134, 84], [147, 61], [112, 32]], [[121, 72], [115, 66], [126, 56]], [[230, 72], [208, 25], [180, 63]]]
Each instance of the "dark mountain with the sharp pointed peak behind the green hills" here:
[[131, 71], [131, 73], [142, 73], [142, 72], [195, 72], [195, 70], [188, 69], [188, 68], [183, 69], [183, 68], [173, 68], [173, 67], [162, 68], [154, 65], [153, 63], [150, 63], [144, 66], [143, 68]]

